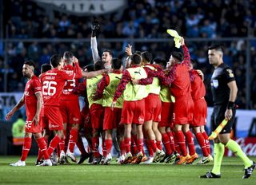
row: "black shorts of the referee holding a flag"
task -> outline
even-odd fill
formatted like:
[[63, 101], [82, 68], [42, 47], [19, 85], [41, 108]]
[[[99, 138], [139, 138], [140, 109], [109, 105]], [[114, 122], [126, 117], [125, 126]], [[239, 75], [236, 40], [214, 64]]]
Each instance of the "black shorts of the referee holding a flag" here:
[[[225, 112], [226, 112], [226, 104], [224, 105], [214, 105], [214, 111], [210, 117], [210, 126], [212, 131], [214, 131], [216, 128], [218, 128], [218, 125], [222, 123], [222, 120], [225, 118]], [[230, 133], [234, 124], [234, 118], [235, 118], [235, 108], [232, 109], [233, 116], [231, 120], [229, 120], [226, 124], [226, 126], [222, 129], [221, 134]]]

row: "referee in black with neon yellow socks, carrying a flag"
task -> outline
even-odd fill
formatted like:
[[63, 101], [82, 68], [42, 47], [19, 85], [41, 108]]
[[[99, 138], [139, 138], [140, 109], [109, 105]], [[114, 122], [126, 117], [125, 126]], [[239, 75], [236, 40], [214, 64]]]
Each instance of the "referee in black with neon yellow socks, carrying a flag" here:
[[245, 175], [247, 179], [252, 175], [256, 164], [250, 160], [240, 146], [230, 139], [230, 132], [234, 124], [235, 105], [234, 101], [238, 93], [238, 87], [234, 79], [232, 69], [223, 62], [223, 47], [212, 45], [208, 48], [208, 58], [214, 66], [214, 73], [210, 80], [211, 92], [214, 99], [214, 112], [211, 115], [210, 124], [214, 131], [222, 120], [228, 120], [222, 132], [214, 139], [214, 167], [201, 178], [221, 178], [221, 165], [224, 155], [224, 148], [230, 149], [235, 155], [242, 159], [245, 165]]

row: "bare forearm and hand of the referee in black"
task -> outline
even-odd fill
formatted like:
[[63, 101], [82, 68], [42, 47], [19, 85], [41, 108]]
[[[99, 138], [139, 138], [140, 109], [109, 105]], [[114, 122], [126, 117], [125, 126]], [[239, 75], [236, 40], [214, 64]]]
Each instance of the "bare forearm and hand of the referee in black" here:
[[225, 118], [226, 120], [230, 120], [233, 116], [232, 108], [234, 107], [234, 101], [237, 98], [238, 86], [235, 81], [230, 81], [230, 83], [228, 83], [227, 85], [230, 88], [230, 100], [228, 107], [226, 108]]

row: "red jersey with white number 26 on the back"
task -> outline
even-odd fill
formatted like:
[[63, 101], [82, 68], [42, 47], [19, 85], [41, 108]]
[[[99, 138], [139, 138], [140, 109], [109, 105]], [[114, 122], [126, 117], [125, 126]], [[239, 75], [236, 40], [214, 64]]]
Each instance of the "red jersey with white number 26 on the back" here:
[[80, 74], [66, 73], [66, 71], [51, 69], [41, 74], [42, 97], [45, 106], [59, 106], [62, 90], [67, 80], [80, 78]]

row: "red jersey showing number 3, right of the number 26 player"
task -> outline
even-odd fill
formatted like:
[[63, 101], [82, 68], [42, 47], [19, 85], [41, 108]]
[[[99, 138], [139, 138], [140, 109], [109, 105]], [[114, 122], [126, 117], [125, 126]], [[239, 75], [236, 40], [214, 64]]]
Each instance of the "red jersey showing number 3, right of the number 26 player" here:
[[[80, 70], [73, 65], [65, 65], [63, 69], [69, 74], [74, 74], [77, 70]], [[78, 79], [67, 80], [62, 90], [61, 100], [78, 100], [78, 95], [74, 94], [73, 90], [77, 85]]]

